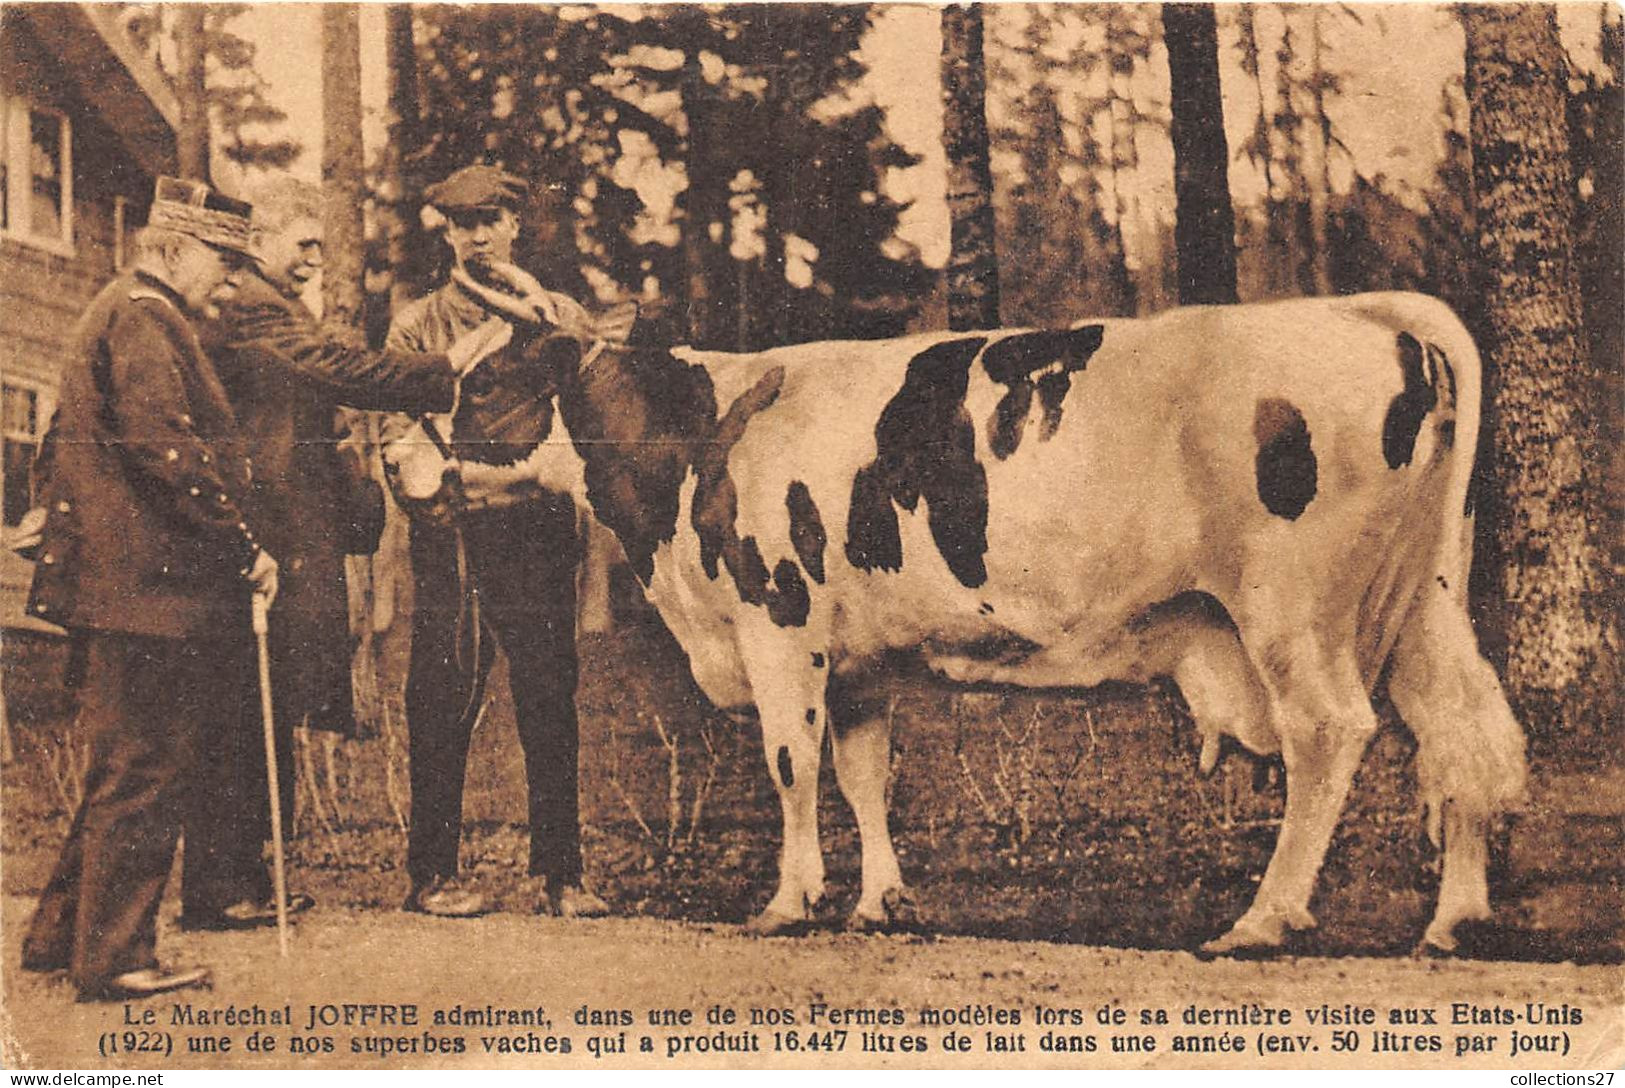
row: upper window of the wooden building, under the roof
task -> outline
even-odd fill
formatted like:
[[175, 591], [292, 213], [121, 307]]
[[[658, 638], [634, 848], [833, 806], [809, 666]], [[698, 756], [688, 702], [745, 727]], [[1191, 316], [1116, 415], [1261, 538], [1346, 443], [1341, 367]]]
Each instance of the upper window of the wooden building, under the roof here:
[[73, 130], [62, 110], [0, 99], [5, 117], [0, 175], [8, 237], [73, 255]]

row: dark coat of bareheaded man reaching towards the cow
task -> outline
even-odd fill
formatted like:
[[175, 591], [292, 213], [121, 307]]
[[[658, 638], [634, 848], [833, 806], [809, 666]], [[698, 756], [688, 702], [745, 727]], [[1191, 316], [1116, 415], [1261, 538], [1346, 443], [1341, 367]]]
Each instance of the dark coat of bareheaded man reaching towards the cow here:
[[[281, 563], [271, 609], [271, 690], [286, 723], [353, 727], [344, 554], [370, 552], [367, 518], [382, 500], [348, 443], [338, 406], [429, 412], [452, 406], [457, 377], [444, 354], [370, 351], [359, 333], [323, 328], [255, 274], [203, 328], [254, 456], [247, 499]], [[372, 508], [372, 503], [379, 503]]]

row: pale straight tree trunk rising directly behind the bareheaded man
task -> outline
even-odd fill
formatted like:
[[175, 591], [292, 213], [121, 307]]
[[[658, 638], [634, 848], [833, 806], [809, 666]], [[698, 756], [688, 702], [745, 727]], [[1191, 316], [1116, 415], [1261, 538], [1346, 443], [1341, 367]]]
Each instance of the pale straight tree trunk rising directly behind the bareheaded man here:
[[322, 216], [327, 318], [361, 317], [366, 232], [366, 174], [361, 148], [361, 11], [354, 3], [322, 6]]

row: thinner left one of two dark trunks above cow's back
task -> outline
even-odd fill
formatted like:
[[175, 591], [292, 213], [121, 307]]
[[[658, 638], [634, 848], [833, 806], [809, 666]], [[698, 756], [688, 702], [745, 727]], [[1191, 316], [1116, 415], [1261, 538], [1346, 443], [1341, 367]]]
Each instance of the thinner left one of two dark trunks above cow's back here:
[[947, 325], [998, 328], [999, 266], [988, 166], [982, 5], [942, 8], [942, 146], [947, 153]]

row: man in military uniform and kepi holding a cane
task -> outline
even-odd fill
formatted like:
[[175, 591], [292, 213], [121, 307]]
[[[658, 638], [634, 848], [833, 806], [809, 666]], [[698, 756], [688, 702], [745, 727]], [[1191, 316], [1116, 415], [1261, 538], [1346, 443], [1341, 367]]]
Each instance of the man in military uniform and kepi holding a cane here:
[[23, 966], [67, 968], [83, 999], [208, 979], [158, 965], [156, 916], [203, 736], [252, 682], [250, 593], [276, 591], [242, 508], [237, 421], [192, 328], [250, 260], [247, 205], [161, 179], [133, 271], [91, 302], [63, 369], [29, 609], [84, 646], [89, 770]]

